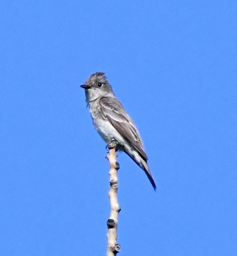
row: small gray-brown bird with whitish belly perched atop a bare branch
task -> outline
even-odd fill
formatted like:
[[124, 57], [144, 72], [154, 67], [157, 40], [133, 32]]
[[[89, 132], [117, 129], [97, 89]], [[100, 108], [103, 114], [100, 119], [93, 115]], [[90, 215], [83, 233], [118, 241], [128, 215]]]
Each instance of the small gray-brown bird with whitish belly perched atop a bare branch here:
[[85, 89], [86, 102], [90, 108], [94, 127], [101, 138], [107, 144], [115, 140], [116, 149], [128, 154], [145, 171], [155, 190], [155, 182], [147, 165], [148, 158], [137, 127], [114, 96], [105, 74], [102, 72], [92, 74], [81, 87]]

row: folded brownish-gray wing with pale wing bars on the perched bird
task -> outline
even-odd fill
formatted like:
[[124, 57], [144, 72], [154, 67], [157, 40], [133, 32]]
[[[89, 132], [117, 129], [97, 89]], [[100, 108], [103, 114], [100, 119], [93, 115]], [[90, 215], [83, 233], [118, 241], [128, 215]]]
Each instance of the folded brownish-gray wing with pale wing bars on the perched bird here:
[[137, 149], [146, 161], [148, 158], [140, 134], [122, 104], [113, 97], [103, 97], [100, 99], [99, 103], [103, 117], [108, 119], [119, 133]]

